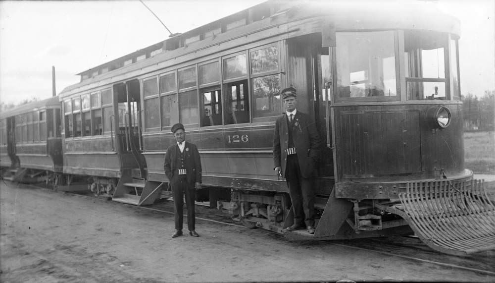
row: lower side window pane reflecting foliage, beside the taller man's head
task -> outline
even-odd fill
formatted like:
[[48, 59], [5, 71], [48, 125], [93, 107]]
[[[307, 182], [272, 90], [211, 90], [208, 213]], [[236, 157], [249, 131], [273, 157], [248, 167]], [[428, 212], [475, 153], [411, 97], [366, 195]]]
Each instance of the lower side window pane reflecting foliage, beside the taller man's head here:
[[252, 93], [255, 117], [275, 116], [281, 113], [278, 74], [252, 79]]

